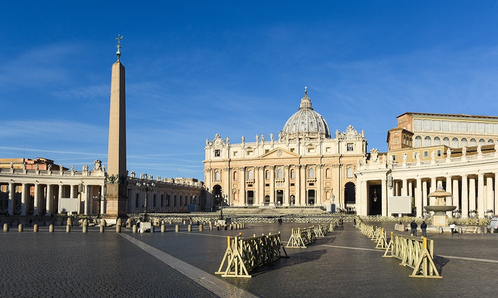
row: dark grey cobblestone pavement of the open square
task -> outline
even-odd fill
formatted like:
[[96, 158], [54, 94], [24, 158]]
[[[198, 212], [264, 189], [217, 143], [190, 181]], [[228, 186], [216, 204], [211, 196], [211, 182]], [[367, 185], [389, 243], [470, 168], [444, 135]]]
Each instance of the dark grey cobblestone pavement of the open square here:
[[[373, 223], [393, 230], [394, 223]], [[0, 297], [240, 297], [221, 295], [152, 256], [145, 245], [192, 265], [215, 281], [256, 297], [471, 297], [496, 295], [498, 234], [428, 234], [434, 239], [435, 262], [443, 279], [410, 278], [412, 269], [345, 223], [307, 248], [286, 248], [289, 258], [262, 266], [252, 278], [221, 278], [218, 270], [227, 236], [244, 237], [281, 231], [287, 243], [291, 228], [310, 224], [246, 224], [241, 230], [188, 232], [167, 225], [164, 233], [122, 234], [98, 227], [48, 233], [32, 229], [0, 232]], [[206, 229], [206, 228], [205, 228]], [[157, 229], [156, 229], [157, 230]], [[403, 233], [397, 232], [396, 233]], [[408, 232], [405, 232], [408, 234]], [[133, 244], [127, 238], [131, 236]], [[140, 244], [140, 243], [143, 243]], [[167, 262], [167, 261], [166, 261]], [[173, 265], [172, 265], [173, 266]], [[174, 267], [174, 266], [173, 266]]]

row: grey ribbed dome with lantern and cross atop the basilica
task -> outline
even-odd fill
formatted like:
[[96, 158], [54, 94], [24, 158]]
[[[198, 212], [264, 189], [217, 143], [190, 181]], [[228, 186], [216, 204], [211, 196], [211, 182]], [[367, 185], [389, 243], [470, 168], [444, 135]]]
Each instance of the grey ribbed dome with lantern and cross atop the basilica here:
[[313, 111], [306, 88], [299, 110], [287, 120], [279, 139], [330, 139], [329, 126], [322, 115]]

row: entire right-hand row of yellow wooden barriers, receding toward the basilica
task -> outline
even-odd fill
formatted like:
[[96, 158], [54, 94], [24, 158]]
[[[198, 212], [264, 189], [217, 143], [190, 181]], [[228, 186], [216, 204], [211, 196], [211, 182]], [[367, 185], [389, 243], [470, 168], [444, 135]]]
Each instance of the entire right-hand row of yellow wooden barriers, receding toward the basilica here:
[[403, 236], [391, 232], [390, 241], [387, 243], [383, 228], [378, 226], [374, 228], [373, 225], [365, 224], [360, 220], [356, 226], [363, 234], [377, 243], [375, 248], [385, 249], [382, 257], [398, 258], [401, 260], [399, 265], [413, 268], [409, 277], [443, 278], [439, 275], [434, 264], [434, 240], [426, 237]]

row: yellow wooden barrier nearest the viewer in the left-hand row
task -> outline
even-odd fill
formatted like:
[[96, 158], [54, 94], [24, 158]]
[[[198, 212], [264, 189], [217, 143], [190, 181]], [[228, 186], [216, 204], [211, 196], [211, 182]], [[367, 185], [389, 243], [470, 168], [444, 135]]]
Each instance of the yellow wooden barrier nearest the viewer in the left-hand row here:
[[[253, 235], [248, 238], [242, 238], [241, 234], [235, 237], [228, 236], [227, 250], [215, 274], [222, 277], [250, 278], [249, 271], [264, 264], [273, 264], [274, 260], [280, 258], [280, 248], [284, 249], [280, 232], [266, 236]], [[285, 249], [284, 253], [287, 256]], [[225, 264], [226, 269], [223, 270]]]

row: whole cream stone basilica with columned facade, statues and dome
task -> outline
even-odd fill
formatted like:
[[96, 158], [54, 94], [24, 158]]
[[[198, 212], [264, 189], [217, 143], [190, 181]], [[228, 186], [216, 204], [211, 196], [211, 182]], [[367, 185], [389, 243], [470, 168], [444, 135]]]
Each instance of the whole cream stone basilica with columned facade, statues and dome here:
[[[275, 137], [232, 144], [216, 134], [206, 140], [207, 202], [229, 206], [356, 206], [358, 160], [365, 158], [363, 131], [349, 126], [331, 136], [325, 119], [304, 92], [299, 109]], [[269, 139], [269, 140], [268, 140]], [[211, 200], [210, 200], [211, 199]]]

